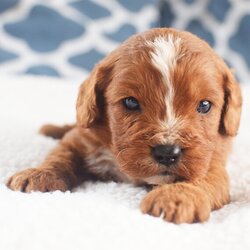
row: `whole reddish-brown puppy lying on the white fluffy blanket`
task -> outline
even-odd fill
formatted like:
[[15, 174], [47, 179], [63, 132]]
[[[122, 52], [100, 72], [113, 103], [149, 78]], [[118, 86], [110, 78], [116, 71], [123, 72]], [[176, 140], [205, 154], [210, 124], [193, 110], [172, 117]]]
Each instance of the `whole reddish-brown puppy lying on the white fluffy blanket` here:
[[206, 42], [149, 30], [95, 66], [80, 86], [76, 125], [43, 127], [61, 138], [58, 146], [7, 186], [49, 192], [87, 180], [147, 184], [143, 213], [203, 222], [229, 202], [225, 166], [241, 104], [234, 76]]

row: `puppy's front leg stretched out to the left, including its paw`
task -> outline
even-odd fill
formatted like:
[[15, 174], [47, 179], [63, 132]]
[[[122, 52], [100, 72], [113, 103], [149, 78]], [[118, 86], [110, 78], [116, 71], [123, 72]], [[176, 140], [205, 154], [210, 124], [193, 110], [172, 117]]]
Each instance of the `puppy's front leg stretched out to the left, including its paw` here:
[[70, 190], [85, 178], [81, 150], [84, 151], [82, 145], [77, 143], [76, 136], [70, 132], [41, 166], [13, 175], [7, 186], [23, 192]]

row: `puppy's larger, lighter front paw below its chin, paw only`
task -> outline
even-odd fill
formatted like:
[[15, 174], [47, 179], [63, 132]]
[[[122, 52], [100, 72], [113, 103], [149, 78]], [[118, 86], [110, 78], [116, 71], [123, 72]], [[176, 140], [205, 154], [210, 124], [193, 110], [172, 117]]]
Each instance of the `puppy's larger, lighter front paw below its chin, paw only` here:
[[148, 193], [141, 203], [141, 210], [180, 224], [206, 221], [211, 206], [208, 197], [199, 188], [190, 184], [172, 184]]

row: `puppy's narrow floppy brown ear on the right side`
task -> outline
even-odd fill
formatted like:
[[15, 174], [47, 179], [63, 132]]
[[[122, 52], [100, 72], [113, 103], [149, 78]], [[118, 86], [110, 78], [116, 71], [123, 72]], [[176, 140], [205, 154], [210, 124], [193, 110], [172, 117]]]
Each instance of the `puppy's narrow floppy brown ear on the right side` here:
[[242, 97], [239, 84], [232, 72], [224, 75], [224, 106], [221, 113], [220, 133], [228, 136], [237, 134], [241, 116]]

